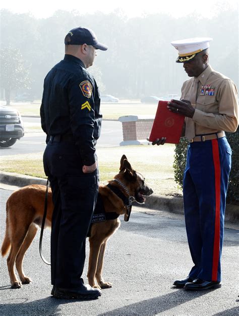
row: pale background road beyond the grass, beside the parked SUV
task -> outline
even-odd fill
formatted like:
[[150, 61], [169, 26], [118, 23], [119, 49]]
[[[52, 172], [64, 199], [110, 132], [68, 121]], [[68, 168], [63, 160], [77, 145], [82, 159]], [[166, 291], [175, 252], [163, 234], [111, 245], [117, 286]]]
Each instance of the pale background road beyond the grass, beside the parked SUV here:
[[[25, 136], [18, 140], [12, 147], [0, 147], [0, 155], [17, 155], [17, 154], [30, 154], [42, 152], [45, 149], [45, 134], [39, 132], [40, 118], [39, 117], [23, 117]], [[32, 132], [34, 128], [38, 129], [37, 132]], [[36, 130], [37, 131], [37, 130]], [[114, 147], [120, 146], [123, 141], [122, 122], [120, 121], [102, 121], [101, 136], [97, 142], [98, 147]]]

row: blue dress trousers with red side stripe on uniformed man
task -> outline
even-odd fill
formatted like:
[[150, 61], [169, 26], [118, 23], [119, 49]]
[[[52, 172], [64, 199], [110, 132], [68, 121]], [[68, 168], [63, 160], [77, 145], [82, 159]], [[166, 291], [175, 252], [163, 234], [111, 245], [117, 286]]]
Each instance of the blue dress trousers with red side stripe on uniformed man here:
[[231, 148], [225, 137], [190, 143], [184, 173], [185, 222], [192, 279], [221, 281], [226, 191]]

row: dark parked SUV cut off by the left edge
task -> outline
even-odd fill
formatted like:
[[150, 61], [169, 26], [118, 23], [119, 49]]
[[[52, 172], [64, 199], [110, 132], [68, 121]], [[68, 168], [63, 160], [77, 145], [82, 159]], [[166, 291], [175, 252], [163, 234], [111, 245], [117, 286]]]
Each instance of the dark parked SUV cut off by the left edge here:
[[23, 121], [20, 113], [0, 105], [0, 147], [10, 147], [24, 136]]

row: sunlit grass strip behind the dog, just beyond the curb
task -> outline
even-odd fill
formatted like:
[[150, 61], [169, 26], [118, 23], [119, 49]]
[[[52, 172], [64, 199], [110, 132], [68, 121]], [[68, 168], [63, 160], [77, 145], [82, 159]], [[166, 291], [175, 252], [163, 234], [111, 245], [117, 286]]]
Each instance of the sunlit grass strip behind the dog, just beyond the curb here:
[[[118, 173], [120, 160], [125, 154], [132, 167], [142, 173], [147, 184], [155, 194], [182, 194], [177, 187], [173, 174], [174, 145], [164, 146], [122, 146], [98, 148], [97, 156], [100, 171], [100, 182], [105, 183]], [[17, 172], [45, 178], [43, 153], [4, 156], [0, 160], [0, 170]]]

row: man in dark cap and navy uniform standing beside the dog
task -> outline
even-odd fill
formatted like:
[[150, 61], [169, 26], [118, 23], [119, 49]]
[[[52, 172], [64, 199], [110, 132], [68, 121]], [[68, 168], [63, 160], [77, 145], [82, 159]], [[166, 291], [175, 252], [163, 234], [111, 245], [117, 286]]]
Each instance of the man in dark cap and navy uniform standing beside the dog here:
[[44, 80], [40, 108], [46, 133], [43, 156], [52, 189], [51, 294], [56, 298], [94, 299], [101, 291], [81, 278], [86, 235], [98, 194], [95, 146], [102, 115], [95, 79], [87, 68], [96, 49], [106, 50], [90, 29], [78, 27], [65, 37], [65, 57]]

